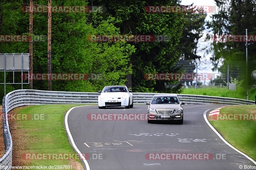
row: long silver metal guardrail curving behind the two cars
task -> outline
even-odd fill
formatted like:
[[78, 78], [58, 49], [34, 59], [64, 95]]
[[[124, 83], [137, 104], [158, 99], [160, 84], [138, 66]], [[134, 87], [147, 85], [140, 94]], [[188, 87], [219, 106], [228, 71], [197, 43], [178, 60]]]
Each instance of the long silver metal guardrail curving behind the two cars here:
[[[134, 103], [146, 103], [151, 101], [155, 94], [159, 93], [132, 93]], [[23, 105], [41, 104], [82, 104], [98, 103], [100, 93], [42, 91], [42, 90], [15, 90], [6, 95], [3, 100], [3, 128], [5, 153], [0, 158], [0, 166], [12, 165], [12, 136], [10, 134], [7, 113], [15, 107]], [[185, 104], [255, 104], [255, 101], [213, 97], [201, 95], [177, 94]], [[9, 168], [10, 169], [10, 168]]]

